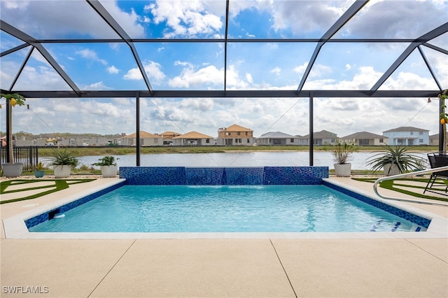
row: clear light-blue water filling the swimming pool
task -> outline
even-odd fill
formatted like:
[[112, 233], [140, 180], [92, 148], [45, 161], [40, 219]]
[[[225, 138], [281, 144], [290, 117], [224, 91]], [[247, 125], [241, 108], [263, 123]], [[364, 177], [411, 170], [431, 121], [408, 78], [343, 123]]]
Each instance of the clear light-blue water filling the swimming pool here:
[[125, 185], [30, 232], [426, 230], [324, 185]]

